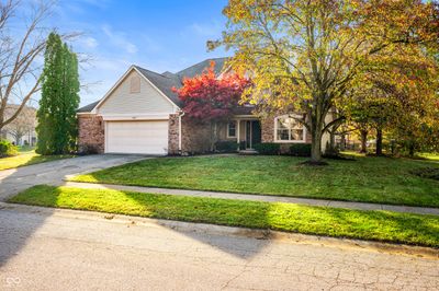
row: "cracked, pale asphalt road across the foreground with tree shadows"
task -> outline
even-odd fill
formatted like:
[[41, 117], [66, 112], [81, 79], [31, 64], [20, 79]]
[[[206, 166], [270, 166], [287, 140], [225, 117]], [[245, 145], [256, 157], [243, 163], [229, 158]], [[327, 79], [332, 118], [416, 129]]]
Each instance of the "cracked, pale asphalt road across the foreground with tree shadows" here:
[[0, 208], [0, 290], [439, 290], [438, 258]]

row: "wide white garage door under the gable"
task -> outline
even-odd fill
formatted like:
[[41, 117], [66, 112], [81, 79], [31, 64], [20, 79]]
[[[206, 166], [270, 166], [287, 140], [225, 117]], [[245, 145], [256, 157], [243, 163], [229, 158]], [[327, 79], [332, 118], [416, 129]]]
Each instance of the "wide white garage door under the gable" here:
[[168, 149], [168, 120], [108, 121], [108, 153], [166, 154]]

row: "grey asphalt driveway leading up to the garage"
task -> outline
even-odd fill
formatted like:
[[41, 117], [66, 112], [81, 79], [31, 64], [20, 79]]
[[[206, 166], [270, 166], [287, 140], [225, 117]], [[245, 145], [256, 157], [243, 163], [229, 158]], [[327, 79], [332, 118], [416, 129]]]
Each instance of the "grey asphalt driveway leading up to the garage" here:
[[94, 172], [142, 159], [147, 156], [95, 154], [0, 171], [0, 201], [34, 185], [60, 185], [69, 175]]

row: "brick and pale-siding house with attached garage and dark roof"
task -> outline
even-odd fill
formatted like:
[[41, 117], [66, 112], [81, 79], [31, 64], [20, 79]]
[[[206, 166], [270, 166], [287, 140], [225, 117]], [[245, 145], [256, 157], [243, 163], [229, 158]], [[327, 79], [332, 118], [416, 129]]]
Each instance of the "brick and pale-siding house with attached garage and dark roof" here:
[[[157, 73], [132, 66], [105, 96], [78, 110], [79, 148], [104, 153], [183, 154], [210, 150], [210, 126], [194, 121], [181, 110], [172, 88], [183, 78], [201, 74], [215, 61], [224, 73], [225, 58], [207, 59], [177, 73]], [[288, 114], [259, 118], [255, 107], [238, 106], [234, 116], [218, 126], [219, 140], [243, 150], [260, 142], [278, 142], [286, 151], [292, 143], [309, 143], [306, 129]], [[323, 146], [327, 137], [324, 137]]]

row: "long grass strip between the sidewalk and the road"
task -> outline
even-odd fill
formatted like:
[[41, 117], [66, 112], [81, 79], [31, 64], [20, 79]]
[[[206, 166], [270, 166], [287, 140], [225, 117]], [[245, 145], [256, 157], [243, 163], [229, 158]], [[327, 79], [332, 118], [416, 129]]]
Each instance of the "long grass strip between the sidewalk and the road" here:
[[439, 247], [439, 217], [40, 185], [10, 202]]

